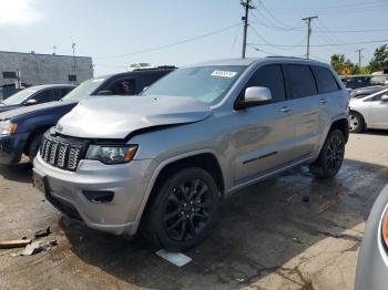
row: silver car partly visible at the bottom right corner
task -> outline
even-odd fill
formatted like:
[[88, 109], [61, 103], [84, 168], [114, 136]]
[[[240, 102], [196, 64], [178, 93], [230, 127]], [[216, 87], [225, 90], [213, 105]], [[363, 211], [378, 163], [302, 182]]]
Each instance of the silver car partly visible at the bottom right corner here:
[[386, 290], [388, 284], [388, 186], [370, 211], [358, 253], [355, 290]]

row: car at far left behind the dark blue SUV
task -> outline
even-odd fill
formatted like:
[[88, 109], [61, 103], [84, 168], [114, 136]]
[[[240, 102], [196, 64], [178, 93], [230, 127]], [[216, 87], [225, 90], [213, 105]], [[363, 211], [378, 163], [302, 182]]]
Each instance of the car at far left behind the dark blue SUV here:
[[59, 101], [74, 87], [75, 85], [72, 84], [45, 84], [30, 86], [1, 101], [0, 113], [21, 106]]

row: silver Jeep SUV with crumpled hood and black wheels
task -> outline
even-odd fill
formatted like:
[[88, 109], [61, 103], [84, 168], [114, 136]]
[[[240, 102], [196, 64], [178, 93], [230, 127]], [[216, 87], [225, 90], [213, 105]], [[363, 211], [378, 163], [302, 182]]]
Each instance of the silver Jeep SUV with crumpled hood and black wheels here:
[[180, 69], [142, 95], [82, 101], [44, 136], [34, 184], [59, 210], [157, 246], [202, 241], [225, 196], [290, 167], [339, 170], [348, 93], [324, 63], [265, 58]]

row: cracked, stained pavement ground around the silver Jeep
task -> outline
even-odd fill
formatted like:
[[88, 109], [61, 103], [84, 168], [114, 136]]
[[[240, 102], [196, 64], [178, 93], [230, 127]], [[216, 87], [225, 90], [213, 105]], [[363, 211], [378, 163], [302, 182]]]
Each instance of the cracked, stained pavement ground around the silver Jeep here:
[[142, 237], [62, 217], [31, 186], [28, 163], [0, 167], [0, 240], [48, 226], [53, 234], [41, 240], [58, 240], [34, 256], [0, 250], [0, 289], [353, 289], [365, 221], [388, 182], [387, 148], [388, 133], [351, 135], [336, 178], [302, 167], [235, 194], [182, 268]]

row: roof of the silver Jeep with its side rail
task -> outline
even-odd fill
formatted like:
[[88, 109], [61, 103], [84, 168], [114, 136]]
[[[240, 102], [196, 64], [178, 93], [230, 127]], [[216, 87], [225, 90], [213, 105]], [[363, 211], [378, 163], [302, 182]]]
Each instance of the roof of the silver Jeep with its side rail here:
[[290, 61], [290, 62], [303, 62], [303, 63], [309, 63], [309, 64], [317, 64], [323, 63], [315, 60], [307, 60], [303, 58], [293, 58], [293, 56], [267, 56], [267, 58], [247, 58], [247, 59], [226, 59], [226, 60], [216, 60], [216, 61], [208, 61], [208, 62], [202, 62], [196, 63], [193, 66], [204, 66], [204, 65], [251, 65], [255, 62], [264, 62], [264, 61], [274, 61], [274, 62], [284, 62], [284, 61]]

